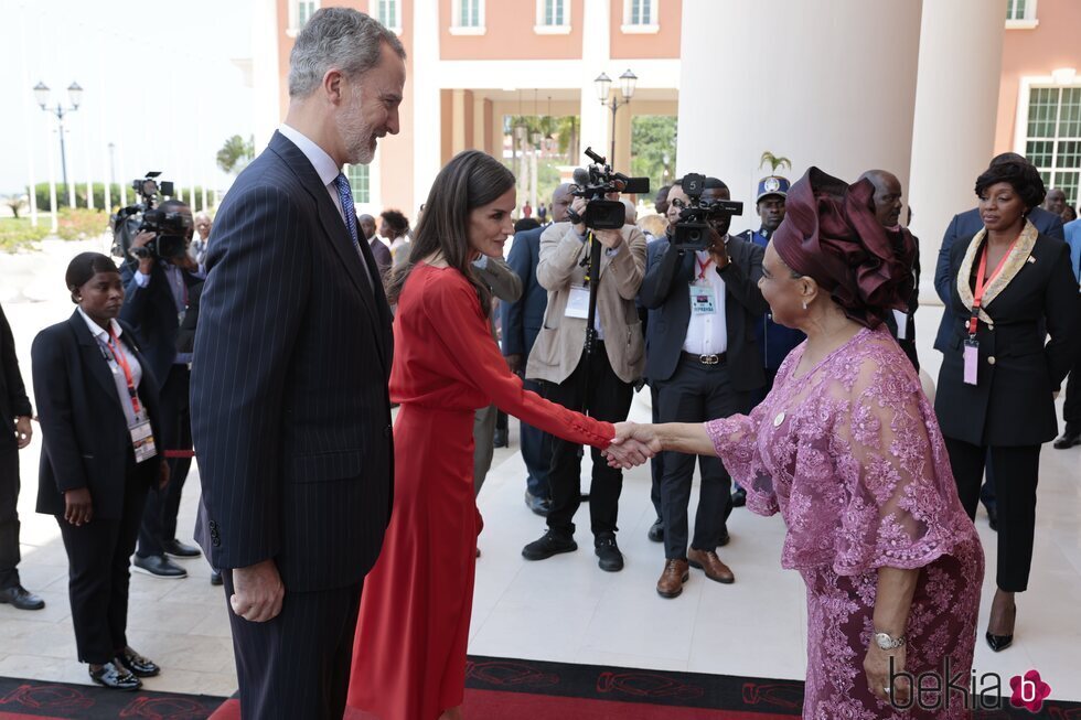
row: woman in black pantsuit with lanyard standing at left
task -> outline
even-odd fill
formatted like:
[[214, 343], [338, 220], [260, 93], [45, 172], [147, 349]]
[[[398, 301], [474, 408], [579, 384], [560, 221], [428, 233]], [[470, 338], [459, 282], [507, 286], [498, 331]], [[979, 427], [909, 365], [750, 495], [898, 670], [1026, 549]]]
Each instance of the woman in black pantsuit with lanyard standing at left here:
[[108, 688], [136, 690], [159, 667], [128, 645], [128, 565], [152, 483], [169, 471], [158, 437], [158, 387], [131, 329], [116, 320], [116, 265], [83, 252], [67, 267], [78, 304], [31, 347], [44, 450], [38, 512], [55, 515], [69, 563], [79, 660]]

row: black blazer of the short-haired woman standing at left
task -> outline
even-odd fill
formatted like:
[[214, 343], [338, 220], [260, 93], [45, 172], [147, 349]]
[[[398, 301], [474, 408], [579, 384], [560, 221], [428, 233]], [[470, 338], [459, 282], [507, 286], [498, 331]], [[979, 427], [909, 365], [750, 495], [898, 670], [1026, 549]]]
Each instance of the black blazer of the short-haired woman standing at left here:
[[[158, 383], [135, 331], [122, 321], [120, 326], [120, 342], [142, 366], [139, 399], [147, 406], [160, 453]], [[76, 310], [66, 322], [38, 333], [30, 356], [43, 443], [38, 512], [62, 515], [64, 491], [87, 487], [96, 518], [120, 519], [131, 436], [101, 346]], [[139, 480], [153, 483], [159, 465], [157, 459], [137, 465]]]

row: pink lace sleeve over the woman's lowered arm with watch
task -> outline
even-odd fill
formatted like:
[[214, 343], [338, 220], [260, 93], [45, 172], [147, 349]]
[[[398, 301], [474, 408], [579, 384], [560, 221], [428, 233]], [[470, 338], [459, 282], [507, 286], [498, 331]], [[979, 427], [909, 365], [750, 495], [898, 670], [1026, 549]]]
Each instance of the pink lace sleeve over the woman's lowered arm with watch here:
[[897, 365], [903, 362], [900, 353], [868, 357], [852, 387], [850, 412], [834, 430], [845, 497], [838, 574], [920, 568], [971, 535], [957, 527], [963, 511], [942, 433], [919, 379]]

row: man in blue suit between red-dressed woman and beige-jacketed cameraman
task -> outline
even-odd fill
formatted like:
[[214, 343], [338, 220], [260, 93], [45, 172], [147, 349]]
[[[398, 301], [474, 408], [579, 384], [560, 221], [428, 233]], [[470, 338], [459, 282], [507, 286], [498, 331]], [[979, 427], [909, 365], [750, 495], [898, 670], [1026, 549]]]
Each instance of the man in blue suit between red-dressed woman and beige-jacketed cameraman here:
[[[506, 257], [522, 279], [522, 297], [514, 302], [501, 302], [503, 313], [503, 356], [512, 373], [522, 375], [533, 343], [544, 325], [544, 311], [548, 307], [548, 291], [537, 282], [537, 265], [540, 262], [540, 236], [550, 227], [554, 233], [566, 232], [567, 208], [570, 207], [570, 183], [563, 183], [552, 193], [552, 225], [524, 230], [514, 236], [511, 252]], [[524, 380], [525, 389], [540, 393], [540, 385]], [[548, 486], [548, 463], [552, 459], [552, 440], [547, 433], [522, 422], [522, 460], [525, 461], [525, 504], [540, 515], [552, 507], [552, 488]]]

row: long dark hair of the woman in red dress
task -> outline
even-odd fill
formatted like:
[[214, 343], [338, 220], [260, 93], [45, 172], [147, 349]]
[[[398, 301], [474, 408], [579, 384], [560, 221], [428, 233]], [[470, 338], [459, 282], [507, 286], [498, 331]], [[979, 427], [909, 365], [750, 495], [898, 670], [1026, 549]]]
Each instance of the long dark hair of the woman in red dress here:
[[387, 279], [390, 304], [397, 304], [414, 266], [442, 252], [447, 265], [465, 276], [477, 289], [481, 310], [486, 316], [492, 309], [492, 294], [473, 272], [469, 214], [513, 187], [514, 173], [492, 155], [479, 150], [465, 150], [454, 155], [431, 184], [425, 212], [409, 244], [408, 262], [395, 268]]

